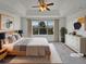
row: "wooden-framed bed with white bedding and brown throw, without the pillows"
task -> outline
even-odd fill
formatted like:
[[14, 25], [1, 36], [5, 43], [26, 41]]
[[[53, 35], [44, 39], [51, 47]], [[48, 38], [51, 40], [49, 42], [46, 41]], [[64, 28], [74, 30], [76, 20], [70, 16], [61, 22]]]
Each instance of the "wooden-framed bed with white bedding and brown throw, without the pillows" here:
[[12, 55], [44, 56], [50, 59], [50, 48], [46, 38], [21, 38], [13, 43], [3, 44]]

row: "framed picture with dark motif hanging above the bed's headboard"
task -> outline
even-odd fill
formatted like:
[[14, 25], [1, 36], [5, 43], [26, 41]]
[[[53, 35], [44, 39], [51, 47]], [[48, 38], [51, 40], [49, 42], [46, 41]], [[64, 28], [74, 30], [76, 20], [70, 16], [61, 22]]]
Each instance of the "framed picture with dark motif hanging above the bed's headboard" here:
[[1, 29], [13, 29], [13, 17], [9, 15], [1, 15]]

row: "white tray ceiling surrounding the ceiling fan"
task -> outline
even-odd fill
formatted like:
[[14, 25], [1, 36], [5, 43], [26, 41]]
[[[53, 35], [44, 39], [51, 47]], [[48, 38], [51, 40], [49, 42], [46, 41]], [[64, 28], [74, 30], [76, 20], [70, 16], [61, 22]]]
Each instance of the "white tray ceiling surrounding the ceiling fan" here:
[[0, 10], [16, 13], [26, 17], [61, 17], [86, 9], [86, 0], [46, 0], [53, 2], [51, 11], [39, 12], [32, 8], [38, 0], [0, 0]]

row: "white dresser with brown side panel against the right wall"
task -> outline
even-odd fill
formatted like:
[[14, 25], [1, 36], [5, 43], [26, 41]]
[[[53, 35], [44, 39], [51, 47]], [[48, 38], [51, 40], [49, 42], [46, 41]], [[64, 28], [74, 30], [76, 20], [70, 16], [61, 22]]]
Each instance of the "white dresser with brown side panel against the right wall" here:
[[86, 54], [86, 37], [65, 35], [65, 44], [78, 53]]

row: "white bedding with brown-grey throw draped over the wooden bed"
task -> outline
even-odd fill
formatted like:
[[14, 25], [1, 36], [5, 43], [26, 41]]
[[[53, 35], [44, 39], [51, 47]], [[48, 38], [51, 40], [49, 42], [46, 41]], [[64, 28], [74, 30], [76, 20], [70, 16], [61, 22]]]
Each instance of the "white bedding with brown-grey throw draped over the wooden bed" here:
[[10, 51], [24, 51], [26, 55], [46, 55], [47, 52], [50, 52], [49, 43], [46, 38], [22, 38], [4, 47]]

